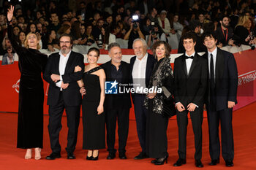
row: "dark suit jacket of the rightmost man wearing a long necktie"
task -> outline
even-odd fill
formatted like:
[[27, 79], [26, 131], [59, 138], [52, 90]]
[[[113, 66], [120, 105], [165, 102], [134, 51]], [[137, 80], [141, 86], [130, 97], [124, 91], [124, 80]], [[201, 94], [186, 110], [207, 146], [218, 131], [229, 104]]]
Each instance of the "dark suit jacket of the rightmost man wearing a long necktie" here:
[[[208, 61], [208, 53], [203, 55]], [[237, 104], [237, 88], [238, 88], [238, 71], [236, 66], [236, 60], [232, 53], [217, 48], [217, 60], [216, 60], [216, 95], [217, 111], [227, 108], [227, 101], [234, 101]], [[208, 71], [209, 72], [209, 71]], [[209, 75], [209, 73], [208, 73]], [[206, 104], [209, 104], [210, 96], [209, 83], [207, 90]]]

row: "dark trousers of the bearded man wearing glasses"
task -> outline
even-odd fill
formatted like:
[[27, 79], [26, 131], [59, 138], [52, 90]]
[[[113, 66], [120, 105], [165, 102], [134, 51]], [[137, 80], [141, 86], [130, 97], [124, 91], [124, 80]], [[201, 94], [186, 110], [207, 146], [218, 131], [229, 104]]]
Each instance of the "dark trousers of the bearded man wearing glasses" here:
[[59, 95], [59, 101], [56, 106], [49, 106], [49, 125], [50, 148], [53, 152], [61, 152], [59, 144], [59, 132], [61, 131], [61, 117], [64, 109], [67, 114], [67, 152], [74, 152], [78, 139], [78, 126], [80, 121], [80, 106], [69, 107], [64, 103], [62, 93]]

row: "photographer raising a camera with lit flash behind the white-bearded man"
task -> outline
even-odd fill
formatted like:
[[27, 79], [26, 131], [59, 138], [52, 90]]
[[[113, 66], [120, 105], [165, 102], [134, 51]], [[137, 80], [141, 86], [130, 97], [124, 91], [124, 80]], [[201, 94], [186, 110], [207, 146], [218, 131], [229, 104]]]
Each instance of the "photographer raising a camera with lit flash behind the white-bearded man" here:
[[132, 43], [135, 39], [145, 39], [145, 36], [140, 31], [140, 23], [138, 23], [138, 15], [132, 15], [132, 18], [128, 18], [128, 24], [130, 26], [129, 31], [125, 34], [124, 39], [128, 39], [128, 48], [132, 49]]

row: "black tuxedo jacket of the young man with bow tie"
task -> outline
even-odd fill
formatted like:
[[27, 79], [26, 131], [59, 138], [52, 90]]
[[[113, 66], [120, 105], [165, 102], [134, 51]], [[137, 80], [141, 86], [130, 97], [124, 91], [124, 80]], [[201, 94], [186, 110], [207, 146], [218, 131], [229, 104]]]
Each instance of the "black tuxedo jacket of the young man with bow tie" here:
[[207, 88], [207, 61], [195, 53], [189, 73], [187, 73], [185, 55], [181, 55], [174, 61], [174, 98], [175, 102], [181, 102], [184, 107], [193, 103], [203, 106]]

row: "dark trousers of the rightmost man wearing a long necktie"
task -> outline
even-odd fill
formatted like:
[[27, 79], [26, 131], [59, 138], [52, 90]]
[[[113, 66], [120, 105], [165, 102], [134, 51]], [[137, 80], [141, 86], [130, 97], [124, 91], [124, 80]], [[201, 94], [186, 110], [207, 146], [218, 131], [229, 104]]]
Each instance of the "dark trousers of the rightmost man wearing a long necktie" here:
[[222, 132], [222, 157], [225, 161], [234, 158], [234, 141], [232, 127], [233, 109], [222, 109], [220, 111], [211, 111], [207, 107], [208, 130], [209, 130], [209, 151], [212, 160], [219, 159], [219, 121]]

